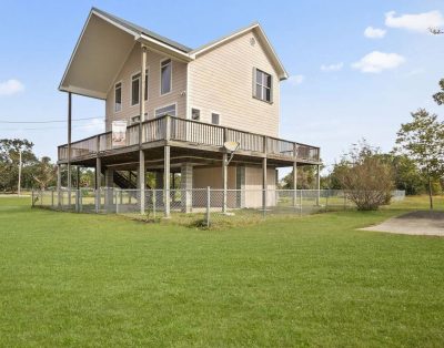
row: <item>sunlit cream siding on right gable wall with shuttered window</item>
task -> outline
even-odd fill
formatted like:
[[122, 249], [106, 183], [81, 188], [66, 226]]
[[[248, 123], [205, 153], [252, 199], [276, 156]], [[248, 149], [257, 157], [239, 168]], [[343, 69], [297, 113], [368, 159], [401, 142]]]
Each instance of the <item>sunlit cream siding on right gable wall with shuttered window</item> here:
[[[273, 76], [273, 103], [252, 96], [253, 68]], [[215, 112], [224, 126], [279, 135], [280, 82], [253, 32], [199, 55], [189, 63], [189, 108], [201, 110], [201, 121], [211, 122]]]

